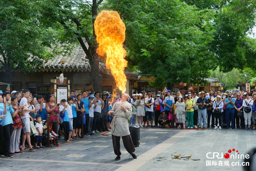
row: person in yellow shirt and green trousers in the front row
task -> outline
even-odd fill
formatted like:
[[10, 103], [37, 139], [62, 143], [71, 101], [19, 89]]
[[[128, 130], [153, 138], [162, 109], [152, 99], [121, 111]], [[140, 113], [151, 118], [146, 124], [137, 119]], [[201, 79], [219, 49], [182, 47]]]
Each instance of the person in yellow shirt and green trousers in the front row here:
[[186, 101], [186, 113], [187, 113], [187, 120], [188, 120], [188, 128], [193, 128], [194, 126], [194, 109], [195, 100], [192, 99], [191, 94], [188, 94], [188, 100]]

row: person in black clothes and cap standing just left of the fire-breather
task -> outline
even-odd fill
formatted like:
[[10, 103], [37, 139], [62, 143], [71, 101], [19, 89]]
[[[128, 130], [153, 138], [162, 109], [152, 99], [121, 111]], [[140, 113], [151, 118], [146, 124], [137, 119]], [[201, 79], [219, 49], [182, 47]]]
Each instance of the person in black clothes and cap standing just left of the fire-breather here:
[[108, 92], [103, 91], [102, 93], [102, 100], [104, 101], [103, 108], [101, 109], [101, 118], [100, 118], [100, 123], [101, 123], [101, 128], [103, 132], [108, 131]]

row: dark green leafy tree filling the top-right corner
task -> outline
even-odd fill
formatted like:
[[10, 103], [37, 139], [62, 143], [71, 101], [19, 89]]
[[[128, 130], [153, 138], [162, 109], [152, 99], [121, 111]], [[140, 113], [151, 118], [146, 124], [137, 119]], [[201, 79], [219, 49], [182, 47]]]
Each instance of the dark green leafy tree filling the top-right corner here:
[[220, 70], [229, 72], [234, 68], [254, 69], [256, 61], [255, 39], [247, 36], [255, 26], [256, 1], [247, 0], [186, 0], [200, 9], [214, 9], [213, 21], [216, 32], [210, 51], [216, 56]]

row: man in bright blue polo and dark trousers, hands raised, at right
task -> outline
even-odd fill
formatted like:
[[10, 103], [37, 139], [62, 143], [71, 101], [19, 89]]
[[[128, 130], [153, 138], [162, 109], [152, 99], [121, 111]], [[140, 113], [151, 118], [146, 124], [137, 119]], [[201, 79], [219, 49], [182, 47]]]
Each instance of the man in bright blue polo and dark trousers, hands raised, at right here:
[[226, 105], [226, 124], [227, 129], [229, 128], [229, 119], [231, 119], [231, 128], [235, 129], [235, 98], [231, 98], [232, 92], [228, 92], [228, 98], [225, 99], [225, 105]]

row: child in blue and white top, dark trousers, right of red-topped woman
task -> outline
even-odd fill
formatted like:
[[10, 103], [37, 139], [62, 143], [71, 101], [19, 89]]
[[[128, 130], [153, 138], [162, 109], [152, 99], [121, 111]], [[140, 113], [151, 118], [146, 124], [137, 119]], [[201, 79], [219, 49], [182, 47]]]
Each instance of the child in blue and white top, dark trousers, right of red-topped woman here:
[[62, 125], [65, 131], [65, 136], [64, 136], [64, 143], [70, 143], [71, 141], [68, 139], [68, 130], [69, 130], [69, 118], [68, 118], [68, 112], [67, 112], [67, 107], [66, 105], [66, 99], [62, 99], [60, 101], [60, 117], [62, 118]]

